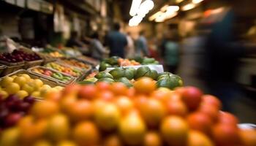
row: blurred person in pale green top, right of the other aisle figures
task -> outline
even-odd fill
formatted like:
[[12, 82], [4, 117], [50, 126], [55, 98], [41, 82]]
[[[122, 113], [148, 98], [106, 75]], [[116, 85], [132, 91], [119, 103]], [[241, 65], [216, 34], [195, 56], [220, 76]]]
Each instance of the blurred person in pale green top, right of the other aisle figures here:
[[167, 71], [175, 74], [179, 60], [178, 33], [176, 31], [171, 31], [166, 35], [166, 42], [163, 47], [165, 67]]

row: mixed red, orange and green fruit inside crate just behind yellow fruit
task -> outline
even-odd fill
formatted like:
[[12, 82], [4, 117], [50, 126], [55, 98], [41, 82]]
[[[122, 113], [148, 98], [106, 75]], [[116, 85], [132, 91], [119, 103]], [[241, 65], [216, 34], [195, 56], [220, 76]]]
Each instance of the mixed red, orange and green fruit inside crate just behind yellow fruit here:
[[42, 67], [37, 67], [34, 69], [31, 69], [31, 72], [35, 72], [37, 74], [42, 74], [47, 77], [60, 80], [61, 82], [69, 83], [72, 81], [72, 77], [69, 77], [68, 75], [62, 74], [61, 72], [55, 72], [50, 69], [45, 69]]

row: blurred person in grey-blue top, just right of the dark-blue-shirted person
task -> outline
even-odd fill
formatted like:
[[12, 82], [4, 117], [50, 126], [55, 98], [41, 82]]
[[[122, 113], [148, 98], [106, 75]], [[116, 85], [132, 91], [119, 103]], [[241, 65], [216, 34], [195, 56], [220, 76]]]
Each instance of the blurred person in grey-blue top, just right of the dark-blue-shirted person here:
[[140, 31], [140, 37], [135, 42], [135, 56], [149, 56], [147, 40], [144, 37], [144, 31]]

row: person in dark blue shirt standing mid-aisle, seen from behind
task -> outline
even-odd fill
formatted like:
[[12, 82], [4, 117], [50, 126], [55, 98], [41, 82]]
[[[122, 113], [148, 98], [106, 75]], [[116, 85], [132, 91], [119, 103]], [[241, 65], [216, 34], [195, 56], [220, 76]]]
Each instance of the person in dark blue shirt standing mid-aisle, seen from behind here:
[[127, 37], [120, 32], [120, 24], [114, 23], [113, 31], [107, 35], [106, 45], [110, 48], [110, 56], [116, 55], [124, 58], [124, 49], [127, 46]]

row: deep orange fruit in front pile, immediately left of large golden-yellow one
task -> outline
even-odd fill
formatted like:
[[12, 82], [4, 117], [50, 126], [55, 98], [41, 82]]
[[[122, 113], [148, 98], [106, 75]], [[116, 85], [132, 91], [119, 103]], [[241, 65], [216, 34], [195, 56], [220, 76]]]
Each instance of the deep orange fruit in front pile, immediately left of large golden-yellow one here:
[[94, 107], [90, 101], [85, 99], [78, 100], [67, 109], [67, 114], [73, 121], [87, 120], [92, 118]]

